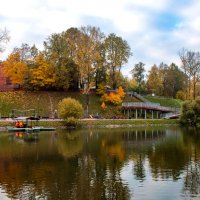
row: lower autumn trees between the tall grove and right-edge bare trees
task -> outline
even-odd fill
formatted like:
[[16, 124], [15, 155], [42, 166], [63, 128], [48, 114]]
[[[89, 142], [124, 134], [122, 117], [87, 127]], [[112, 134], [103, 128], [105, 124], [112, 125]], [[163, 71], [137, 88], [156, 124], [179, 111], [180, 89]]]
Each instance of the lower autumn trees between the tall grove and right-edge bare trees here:
[[174, 97], [185, 99], [185, 88], [187, 76], [172, 63], [167, 65], [153, 65], [148, 71], [145, 80], [145, 69], [143, 63], [134, 66], [133, 79], [136, 80], [136, 90], [139, 93], [148, 93], [157, 96]]

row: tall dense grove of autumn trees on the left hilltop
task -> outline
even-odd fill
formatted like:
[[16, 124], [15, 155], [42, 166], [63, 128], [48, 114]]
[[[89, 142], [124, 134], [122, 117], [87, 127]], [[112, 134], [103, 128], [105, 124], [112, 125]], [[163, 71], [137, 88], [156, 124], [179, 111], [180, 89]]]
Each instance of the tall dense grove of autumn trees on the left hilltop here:
[[28, 90], [89, 90], [92, 84], [119, 85], [121, 67], [128, 62], [128, 43], [97, 27], [70, 28], [50, 35], [44, 50], [22, 44], [1, 63], [13, 84]]

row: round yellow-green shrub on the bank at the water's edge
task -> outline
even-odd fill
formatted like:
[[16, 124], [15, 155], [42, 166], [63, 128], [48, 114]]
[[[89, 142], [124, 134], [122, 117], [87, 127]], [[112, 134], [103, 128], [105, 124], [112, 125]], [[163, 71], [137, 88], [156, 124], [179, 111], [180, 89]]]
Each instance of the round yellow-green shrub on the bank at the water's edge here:
[[75, 125], [77, 119], [83, 115], [83, 106], [75, 99], [65, 98], [58, 103], [58, 114], [66, 125]]

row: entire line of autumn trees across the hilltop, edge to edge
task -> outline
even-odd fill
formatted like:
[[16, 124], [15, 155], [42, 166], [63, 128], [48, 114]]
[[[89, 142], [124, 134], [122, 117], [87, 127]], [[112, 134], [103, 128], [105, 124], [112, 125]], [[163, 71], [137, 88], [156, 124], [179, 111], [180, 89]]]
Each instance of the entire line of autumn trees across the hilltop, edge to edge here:
[[[0, 34], [0, 44], [9, 40], [6, 30]], [[145, 64], [139, 62], [129, 79], [122, 75], [121, 68], [131, 55], [127, 41], [114, 33], [105, 35], [92, 26], [73, 27], [50, 35], [43, 42], [43, 51], [28, 44], [14, 48], [0, 65], [12, 84], [26, 90], [81, 89], [88, 94], [93, 86], [122, 86], [129, 91], [182, 100], [200, 96], [199, 52], [182, 49], [180, 67], [161, 63], [145, 71]]]

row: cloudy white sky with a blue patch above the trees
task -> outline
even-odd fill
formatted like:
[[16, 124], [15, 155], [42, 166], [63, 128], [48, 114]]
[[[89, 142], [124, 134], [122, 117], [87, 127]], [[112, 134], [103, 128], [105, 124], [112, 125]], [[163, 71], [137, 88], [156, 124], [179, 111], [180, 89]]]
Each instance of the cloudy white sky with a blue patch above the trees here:
[[11, 37], [0, 60], [22, 43], [43, 42], [70, 27], [99, 27], [126, 40], [132, 56], [122, 67], [125, 76], [138, 62], [148, 72], [154, 64], [181, 65], [179, 51], [200, 51], [198, 0], [6, 0], [0, 5], [0, 29]]

